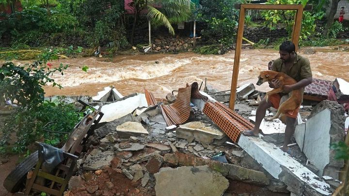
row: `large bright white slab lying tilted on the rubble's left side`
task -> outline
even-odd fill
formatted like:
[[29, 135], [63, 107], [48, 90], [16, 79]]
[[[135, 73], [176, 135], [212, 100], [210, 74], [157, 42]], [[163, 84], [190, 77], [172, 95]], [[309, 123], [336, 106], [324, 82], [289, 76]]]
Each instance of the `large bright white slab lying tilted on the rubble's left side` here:
[[110, 122], [121, 118], [132, 113], [138, 107], [148, 107], [144, 94], [137, 93], [135, 96], [128, 97], [127, 99], [104, 105], [101, 109], [104, 116], [100, 122]]

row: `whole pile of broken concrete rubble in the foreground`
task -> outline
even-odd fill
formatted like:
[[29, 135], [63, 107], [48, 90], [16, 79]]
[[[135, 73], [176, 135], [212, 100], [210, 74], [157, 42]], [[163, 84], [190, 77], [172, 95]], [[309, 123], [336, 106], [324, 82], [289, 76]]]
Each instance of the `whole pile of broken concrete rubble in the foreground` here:
[[[220, 93], [214, 96], [200, 93], [211, 102], [216, 102], [218, 97], [222, 102], [229, 101], [229, 97]], [[253, 84], [239, 88], [238, 114], [247, 120], [252, 117], [251, 111], [256, 106], [248, 103], [261, 95]], [[166, 98], [168, 102], [162, 104], [174, 103], [176, 99], [172, 94]], [[343, 162], [334, 160], [334, 152], [328, 147], [334, 141], [344, 140], [344, 115], [342, 118], [335, 109], [327, 109], [326, 102], [317, 106], [321, 108], [314, 108], [305, 123], [299, 120], [295, 139], [305, 154], [300, 152], [299, 163], [278, 148], [283, 142], [280, 131], [283, 127], [274, 128], [262, 138], [240, 136], [233, 144], [202, 112], [205, 106], [202, 99], [191, 99], [189, 119], [170, 127], [160, 106], [148, 106], [142, 93], [124, 97], [117, 90], [106, 88], [93, 100], [91, 104], [102, 106], [105, 115], [86, 142], [86, 151], [79, 157], [77, 173], [70, 179], [64, 196], [256, 194], [240, 190], [237, 184], [241, 183], [257, 187], [254, 190], [264, 195], [291, 192], [300, 196], [320, 196], [331, 195], [339, 185], [338, 181], [334, 183], [338, 179], [335, 171], [343, 167]], [[303, 107], [301, 112], [306, 115], [310, 109]], [[314, 135], [317, 127], [308, 129], [317, 126], [312, 121], [323, 118], [328, 118], [328, 124], [318, 134], [327, 134], [326, 140], [316, 142], [307, 135]], [[276, 124], [274, 127], [280, 125]], [[268, 130], [269, 126], [272, 125], [265, 125], [264, 129]], [[320, 143], [322, 147], [318, 146]], [[326, 155], [327, 162], [314, 156], [314, 148], [321, 149], [321, 158]], [[317, 168], [315, 173], [306, 167], [308, 162]], [[322, 179], [322, 176], [330, 177]]]

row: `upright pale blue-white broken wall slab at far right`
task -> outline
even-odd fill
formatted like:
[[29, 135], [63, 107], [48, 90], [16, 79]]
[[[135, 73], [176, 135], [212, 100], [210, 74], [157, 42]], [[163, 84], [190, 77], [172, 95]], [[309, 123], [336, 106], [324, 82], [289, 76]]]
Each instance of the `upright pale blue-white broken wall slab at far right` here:
[[330, 145], [344, 141], [344, 109], [336, 102], [322, 101], [314, 107], [308, 121], [296, 126], [295, 138], [301, 151], [319, 170], [319, 176], [338, 179], [344, 160], [334, 159]]

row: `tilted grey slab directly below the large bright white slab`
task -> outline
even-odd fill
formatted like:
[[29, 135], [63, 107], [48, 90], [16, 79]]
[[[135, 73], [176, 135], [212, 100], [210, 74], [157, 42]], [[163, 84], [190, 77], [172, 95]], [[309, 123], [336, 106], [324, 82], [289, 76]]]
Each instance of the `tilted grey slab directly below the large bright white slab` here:
[[116, 131], [116, 127], [121, 125], [124, 122], [128, 121], [135, 121], [135, 122], [140, 122], [138, 118], [134, 117], [132, 114], [127, 114], [126, 116], [123, 116], [119, 119], [110, 121], [103, 126], [99, 127], [98, 129], [95, 130], [95, 134], [99, 138], [103, 138], [107, 136], [109, 133]]

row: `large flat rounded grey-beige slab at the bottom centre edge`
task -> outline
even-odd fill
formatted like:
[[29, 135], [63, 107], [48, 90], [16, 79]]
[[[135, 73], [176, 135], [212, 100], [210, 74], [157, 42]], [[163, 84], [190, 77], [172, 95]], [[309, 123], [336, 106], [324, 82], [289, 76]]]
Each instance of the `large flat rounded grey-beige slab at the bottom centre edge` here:
[[157, 196], [221, 196], [229, 186], [222, 174], [208, 166], [163, 167], [154, 177]]

